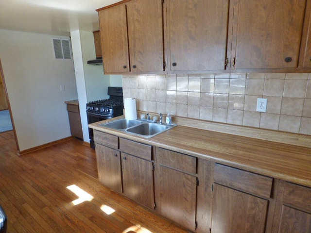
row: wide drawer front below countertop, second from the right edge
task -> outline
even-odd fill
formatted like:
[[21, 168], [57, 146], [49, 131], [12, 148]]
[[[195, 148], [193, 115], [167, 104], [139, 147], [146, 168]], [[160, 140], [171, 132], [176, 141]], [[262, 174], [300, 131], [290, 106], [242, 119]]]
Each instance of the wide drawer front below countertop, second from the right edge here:
[[215, 164], [214, 182], [250, 194], [270, 198], [272, 189], [271, 177], [266, 177], [237, 168]]

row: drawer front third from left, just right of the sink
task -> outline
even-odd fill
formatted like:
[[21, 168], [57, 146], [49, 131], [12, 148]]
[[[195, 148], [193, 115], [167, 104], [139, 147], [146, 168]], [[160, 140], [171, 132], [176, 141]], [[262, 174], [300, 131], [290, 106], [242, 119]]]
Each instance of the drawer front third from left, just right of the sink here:
[[157, 148], [156, 162], [161, 165], [169, 166], [184, 172], [189, 172], [192, 174], [196, 173], [196, 157], [178, 153], [172, 150]]

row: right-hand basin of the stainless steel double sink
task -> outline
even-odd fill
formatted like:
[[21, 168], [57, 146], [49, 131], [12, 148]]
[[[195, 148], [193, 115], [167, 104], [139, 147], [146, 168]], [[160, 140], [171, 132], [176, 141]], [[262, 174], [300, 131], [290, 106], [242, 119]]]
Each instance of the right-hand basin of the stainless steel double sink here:
[[131, 127], [126, 130], [128, 133], [134, 133], [143, 137], [153, 137], [159, 133], [163, 133], [169, 129], [172, 129], [174, 125], [160, 125], [155, 123], [143, 123], [135, 127]]

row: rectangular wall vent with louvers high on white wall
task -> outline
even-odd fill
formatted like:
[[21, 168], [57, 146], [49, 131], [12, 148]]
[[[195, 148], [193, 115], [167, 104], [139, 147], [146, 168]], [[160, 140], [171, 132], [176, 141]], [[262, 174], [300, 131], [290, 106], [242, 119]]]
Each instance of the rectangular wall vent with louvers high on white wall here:
[[52, 44], [53, 44], [55, 59], [71, 60], [71, 48], [70, 48], [69, 39], [52, 38]]

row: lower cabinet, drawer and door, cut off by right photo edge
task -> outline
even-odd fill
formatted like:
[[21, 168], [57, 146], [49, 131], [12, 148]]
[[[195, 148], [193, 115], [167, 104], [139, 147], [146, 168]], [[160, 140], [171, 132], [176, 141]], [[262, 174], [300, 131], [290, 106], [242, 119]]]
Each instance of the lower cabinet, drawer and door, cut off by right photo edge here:
[[311, 188], [282, 181], [273, 233], [311, 232]]

